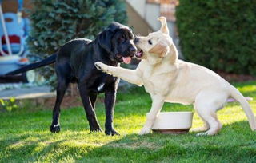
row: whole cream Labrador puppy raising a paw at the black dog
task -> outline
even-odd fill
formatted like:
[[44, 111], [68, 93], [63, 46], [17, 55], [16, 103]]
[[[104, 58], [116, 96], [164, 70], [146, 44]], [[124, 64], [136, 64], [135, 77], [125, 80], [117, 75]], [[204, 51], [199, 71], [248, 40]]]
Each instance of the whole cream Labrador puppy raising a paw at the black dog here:
[[256, 130], [254, 113], [238, 89], [203, 66], [178, 60], [178, 51], [169, 36], [166, 18], [160, 17], [158, 20], [162, 22], [161, 30], [146, 37], [138, 37], [136, 46], [143, 50], [143, 56], [136, 70], [95, 63], [98, 69], [107, 74], [139, 86], [144, 85], [146, 92], [150, 93], [152, 106], [139, 134], [150, 133], [154, 120], [166, 101], [194, 104], [194, 109], [205, 122], [204, 127], [194, 130], [206, 131], [197, 135], [214, 135], [222, 128], [216, 112], [222, 109], [228, 97], [234, 97], [240, 102], [250, 128]]

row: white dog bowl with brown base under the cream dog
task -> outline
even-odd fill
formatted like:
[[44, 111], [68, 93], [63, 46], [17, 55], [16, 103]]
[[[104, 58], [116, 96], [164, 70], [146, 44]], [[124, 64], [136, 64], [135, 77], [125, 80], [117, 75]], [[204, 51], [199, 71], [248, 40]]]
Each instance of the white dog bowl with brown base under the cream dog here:
[[192, 118], [192, 112], [162, 112], [154, 121], [152, 130], [158, 133], [188, 133]]

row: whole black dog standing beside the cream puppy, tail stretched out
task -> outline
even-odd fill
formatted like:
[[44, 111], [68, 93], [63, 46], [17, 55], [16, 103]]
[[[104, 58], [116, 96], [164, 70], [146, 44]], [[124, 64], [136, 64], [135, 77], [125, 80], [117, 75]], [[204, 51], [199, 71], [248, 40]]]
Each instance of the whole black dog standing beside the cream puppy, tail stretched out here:
[[118, 66], [118, 62], [122, 62], [122, 57], [133, 57], [136, 47], [131, 39], [133, 34], [130, 28], [114, 22], [98, 34], [94, 41], [83, 38], [71, 40], [49, 58], [6, 75], [19, 74], [56, 62], [57, 98], [50, 131], [52, 133], [60, 131], [59, 114], [62, 98], [69, 83], [77, 82], [90, 131], [101, 131], [94, 110], [98, 93], [105, 93], [105, 133], [106, 135], [118, 134], [113, 126], [113, 113], [119, 79], [97, 70], [94, 62], [101, 61], [110, 66]]

